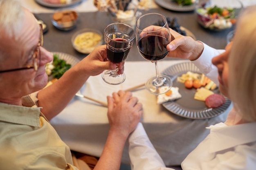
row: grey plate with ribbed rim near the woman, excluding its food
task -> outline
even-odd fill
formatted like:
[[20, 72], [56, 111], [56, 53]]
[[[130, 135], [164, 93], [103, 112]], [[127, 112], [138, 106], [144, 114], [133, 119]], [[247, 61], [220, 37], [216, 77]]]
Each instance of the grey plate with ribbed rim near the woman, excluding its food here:
[[[227, 98], [225, 104], [218, 108], [208, 108], [204, 102], [194, 99], [196, 92], [195, 88], [187, 89], [183, 83], [177, 81], [177, 77], [191, 71], [193, 73], [200, 73], [199, 69], [191, 62], [182, 62], [175, 64], [169, 68], [166, 68], [162, 72], [164, 75], [168, 75], [173, 80], [173, 86], [179, 87], [179, 92], [182, 98], [172, 102], [166, 102], [162, 104], [170, 112], [179, 115], [181, 117], [191, 119], [208, 119], [215, 117], [223, 113], [231, 104], [231, 101]], [[214, 93], [220, 93], [218, 88], [213, 91]]]

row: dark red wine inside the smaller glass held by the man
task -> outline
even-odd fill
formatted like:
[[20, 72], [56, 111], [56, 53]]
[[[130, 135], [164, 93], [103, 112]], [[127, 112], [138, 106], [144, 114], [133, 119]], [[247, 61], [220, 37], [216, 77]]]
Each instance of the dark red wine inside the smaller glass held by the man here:
[[[113, 39], [115, 41], [127, 41], [124, 38], [115, 38]], [[117, 42], [112, 41], [109, 43], [110, 46], [118, 46]], [[110, 60], [112, 63], [120, 63], [120, 62], [124, 62], [127, 59], [127, 56], [129, 54], [130, 48], [128, 49], [124, 49], [124, 50], [120, 50], [119, 48], [111, 48], [108, 47], [107, 48], [107, 55], [108, 55], [108, 60]]]

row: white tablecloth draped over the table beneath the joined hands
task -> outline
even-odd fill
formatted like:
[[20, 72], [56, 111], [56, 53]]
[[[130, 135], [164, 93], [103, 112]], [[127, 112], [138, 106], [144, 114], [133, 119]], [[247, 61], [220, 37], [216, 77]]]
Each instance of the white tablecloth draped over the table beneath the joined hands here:
[[[184, 61], [159, 61], [159, 72], [178, 62]], [[81, 89], [81, 93], [107, 102], [106, 96], [112, 95], [112, 92], [142, 84], [148, 77], [155, 75], [155, 64], [149, 61], [126, 62], [125, 74], [126, 80], [120, 85], [105, 83], [101, 75], [90, 77]], [[133, 95], [138, 97], [139, 102], [143, 104], [142, 123], [166, 165], [179, 165], [209, 133], [205, 127], [223, 122], [227, 117], [227, 112], [225, 112], [211, 119], [187, 119], [169, 112], [162, 105], [157, 105], [156, 96], [148, 93], [145, 88], [134, 91]], [[52, 119], [51, 124], [72, 150], [99, 157], [109, 130], [106, 113], [106, 107], [88, 99], [74, 97], [70, 104]], [[129, 163], [127, 146], [122, 162]]]

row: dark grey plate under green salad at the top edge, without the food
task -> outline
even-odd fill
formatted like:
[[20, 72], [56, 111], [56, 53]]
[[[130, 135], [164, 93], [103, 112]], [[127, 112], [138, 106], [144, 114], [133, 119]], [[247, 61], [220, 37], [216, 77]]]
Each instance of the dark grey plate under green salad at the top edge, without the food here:
[[155, 0], [155, 3], [158, 4], [160, 7], [163, 7], [165, 9], [169, 9], [172, 11], [194, 11], [195, 7], [194, 5], [186, 5], [186, 6], [180, 6], [176, 2], [173, 2], [172, 0]]

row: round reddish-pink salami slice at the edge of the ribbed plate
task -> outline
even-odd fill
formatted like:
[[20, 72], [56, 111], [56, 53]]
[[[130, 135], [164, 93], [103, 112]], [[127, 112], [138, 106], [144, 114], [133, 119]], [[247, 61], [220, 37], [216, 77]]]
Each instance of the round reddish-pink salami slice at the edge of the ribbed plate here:
[[205, 99], [205, 104], [209, 108], [217, 108], [217, 107], [221, 106], [222, 104], [224, 104], [225, 101], [226, 100], [225, 100], [225, 98], [222, 95], [214, 93], [212, 95], [209, 95]]

